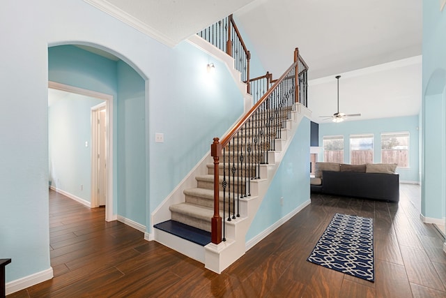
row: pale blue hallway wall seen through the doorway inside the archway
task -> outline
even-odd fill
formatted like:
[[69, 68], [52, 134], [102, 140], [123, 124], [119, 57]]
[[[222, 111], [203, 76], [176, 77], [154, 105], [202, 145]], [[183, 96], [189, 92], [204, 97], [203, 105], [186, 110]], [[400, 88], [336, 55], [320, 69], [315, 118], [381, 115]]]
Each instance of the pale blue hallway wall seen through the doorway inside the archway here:
[[49, 183], [91, 202], [91, 107], [104, 100], [63, 91], [52, 94], [54, 103], [48, 107]]

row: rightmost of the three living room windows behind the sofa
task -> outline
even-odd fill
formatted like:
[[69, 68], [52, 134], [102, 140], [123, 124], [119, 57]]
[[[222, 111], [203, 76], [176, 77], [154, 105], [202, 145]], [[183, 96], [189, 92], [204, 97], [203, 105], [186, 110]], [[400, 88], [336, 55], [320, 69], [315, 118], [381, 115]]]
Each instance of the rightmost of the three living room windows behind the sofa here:
[[409, 167], [409, 133], [381, 133], [381, 163]]

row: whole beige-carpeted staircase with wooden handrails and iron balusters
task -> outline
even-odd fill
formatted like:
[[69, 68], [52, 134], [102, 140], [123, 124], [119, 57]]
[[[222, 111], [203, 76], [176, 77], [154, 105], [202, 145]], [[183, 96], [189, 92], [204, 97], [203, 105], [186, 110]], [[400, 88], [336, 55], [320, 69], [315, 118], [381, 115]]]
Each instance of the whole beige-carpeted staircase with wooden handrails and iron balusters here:
[[[231, 22], [232, 19], [228, 24]], [[235, 31], [238, 33], [238, 29]], [[198, 47], [213, 51], [206, 40], [197, 38], [192, 40]], [[247, 93], [245, 110], [248, 112], [222, 140], [214, 138], [210, 154], [185, 177], [151, 218], [155, 223], [152, 234], [156, 241], [202, 262], [217, 273], [245, 253], [249, 225], [300, 120], [311, 116], [306, 108], [307, 65], [297, 49], [294, 63], [282, 77], [272, 81], [268, 73], [264, 76], [268, 80], [268, 90], [263, 90], [263, 96], [254, 98], [253, 103], [249, 95], [249, 52], [244, 44], [240, 47], [245, 49], [244, 56], [231, 58], [226, 64], [235, 80], [240, 81], [240, 90]], [[225, 52], [233, 52], [229, 41]], [[240, 55], [237, 50], [235, 53]], [[227, 57], [221, 58], [225, 61]], [[243, 61], [247, 64], [247, 74], [239, 72], [246, 70]], [[270, 82], [274, 82], [271, 88]], [[254, 92], [259, 94], [259, 91]]]

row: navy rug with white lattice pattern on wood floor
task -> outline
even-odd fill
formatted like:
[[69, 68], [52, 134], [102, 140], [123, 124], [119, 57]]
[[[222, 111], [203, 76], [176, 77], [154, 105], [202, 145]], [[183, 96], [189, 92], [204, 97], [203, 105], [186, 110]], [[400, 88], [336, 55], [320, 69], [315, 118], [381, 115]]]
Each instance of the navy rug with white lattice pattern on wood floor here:
[[373, 219], [335, 214], [307, 260], [374, 282]]

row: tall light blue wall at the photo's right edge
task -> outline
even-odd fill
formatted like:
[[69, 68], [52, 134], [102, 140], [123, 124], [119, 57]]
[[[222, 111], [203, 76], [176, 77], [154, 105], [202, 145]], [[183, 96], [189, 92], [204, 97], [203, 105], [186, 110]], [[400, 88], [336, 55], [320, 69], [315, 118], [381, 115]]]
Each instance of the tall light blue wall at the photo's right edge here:
[[[446, 9], [423, 1], [422, 214], [446, 213]], [[444, 220], [443, 220], [444, 221]]]

